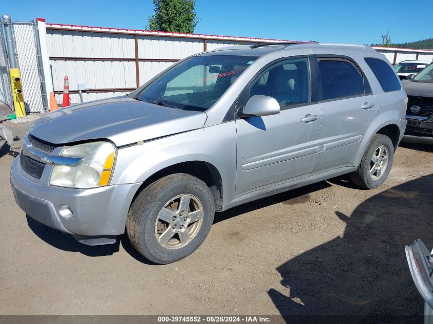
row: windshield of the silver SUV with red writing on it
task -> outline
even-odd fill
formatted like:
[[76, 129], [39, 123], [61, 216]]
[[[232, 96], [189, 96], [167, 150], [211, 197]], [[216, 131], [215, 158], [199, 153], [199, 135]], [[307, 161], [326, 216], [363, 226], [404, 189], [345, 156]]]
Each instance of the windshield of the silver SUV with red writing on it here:
[[136, 99], [183, 110], [205, 111], [256, 59], [256, 56], [194, 56], [154, 80]]

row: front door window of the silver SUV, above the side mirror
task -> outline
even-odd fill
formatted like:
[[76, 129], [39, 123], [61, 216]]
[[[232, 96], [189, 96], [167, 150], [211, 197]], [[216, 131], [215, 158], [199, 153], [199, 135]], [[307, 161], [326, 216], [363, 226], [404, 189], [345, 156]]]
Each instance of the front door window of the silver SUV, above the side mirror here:
[[251, 83], [250, 98], [271, 96], [280, 107], [311, 101], [310, 67], [307, 58], [277, 62]]

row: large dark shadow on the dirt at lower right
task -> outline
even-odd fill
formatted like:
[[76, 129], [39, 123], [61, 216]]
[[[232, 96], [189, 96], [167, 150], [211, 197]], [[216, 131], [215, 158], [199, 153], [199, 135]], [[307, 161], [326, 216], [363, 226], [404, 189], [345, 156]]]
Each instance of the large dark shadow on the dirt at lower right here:
[[[433, 246], [432, 183], [432, 175], [418, 178], [369, 198], [350, 215], [336, 211], [347, 224], [342, 237], [277, 268], [281, 287], [268, 293], [279, 312], [383, 316], [376, 322], [389, 322], [384, 314], [421, 315], [423, 301], [410, 276], [404, 247], [415, 239]], [[403, 321], [393, 318], [393, 322], [414, 322], [400, 318]]]

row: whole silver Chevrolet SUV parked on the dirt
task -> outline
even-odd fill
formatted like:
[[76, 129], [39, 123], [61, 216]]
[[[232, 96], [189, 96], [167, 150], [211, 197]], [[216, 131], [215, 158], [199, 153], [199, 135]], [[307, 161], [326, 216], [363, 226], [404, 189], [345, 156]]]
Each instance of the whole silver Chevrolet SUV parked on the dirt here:
[[407, 98], [366, 46], [235, 46], [185, 58], [126, 96], [32, 124], [17, 204], [88, 245], [126, 232], [149, 260], [193, 253], [215, 211], [350, 173], [388, 176]]

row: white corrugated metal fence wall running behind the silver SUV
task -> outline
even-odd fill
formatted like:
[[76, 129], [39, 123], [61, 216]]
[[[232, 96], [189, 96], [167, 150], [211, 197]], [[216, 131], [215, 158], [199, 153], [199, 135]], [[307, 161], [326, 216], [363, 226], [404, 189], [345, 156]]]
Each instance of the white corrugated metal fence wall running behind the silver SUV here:
[[[51, 57], [50, 64], [54, 90], [63, 90], [66, 75], [69, 77], [70, 91], [76, 91], [78, 83], [85, 83], [87, 89], [107, 90], [97, 93], [84, 93], [84, 101], [109, 98], [126, 93], [109, 90], [136, 88], [135, 37], [137, 37], [138, 58], [141, 59], [138, 62], [139, 84], [147, 82], [174, 63], [173, 61], [158, 60], [182, 59], [202, 52], [204, 46], [207, 51], [212, 51], [224, 46], [284, 41], [103, 27], [48, 25], [47, 47]], [[429, 54], [425, 51], [389, 48], [376, 48], [376, 50], [384, 54], [391, 63], [394, 62], [396, 51], [398, 52], [397, 62], [405, 59], [415, 59], [417, 52], [419, 52], [419, 59], [433, 59], [433, 53]], [[88, 59], [77, 60], [74, 58]], [[102, 60], [104, 58], [106, 60]], [[61, 95], [56, 95], [58, 101], [61, 101], [60, 97]], [[79, 102], [78, 94], [71, 94], [71, 101], [73, 103]]]

